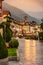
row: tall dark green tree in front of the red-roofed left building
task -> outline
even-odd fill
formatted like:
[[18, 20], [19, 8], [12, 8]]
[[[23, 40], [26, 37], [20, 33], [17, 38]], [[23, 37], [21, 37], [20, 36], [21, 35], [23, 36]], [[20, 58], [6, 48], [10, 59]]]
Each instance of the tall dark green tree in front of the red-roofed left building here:
[[4, 18], [6, 18], [6, 22], [2, 22], [0, 24], [0, 28], [3, 29], [3, 38], [5, 42], [9, 42], [12, 37], [12, 30], [10, 29], [10, 23], [12, 22], [13, 18], [11, 18], [10, 16], [6, 16]]

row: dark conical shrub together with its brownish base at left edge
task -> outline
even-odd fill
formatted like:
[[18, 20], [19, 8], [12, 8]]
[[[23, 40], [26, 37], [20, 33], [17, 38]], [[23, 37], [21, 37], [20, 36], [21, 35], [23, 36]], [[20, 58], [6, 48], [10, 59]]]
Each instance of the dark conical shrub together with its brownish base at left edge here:
[[0, 34], [0, 65], [7, 65], [8, 61], [8, 51], [3, 37]]

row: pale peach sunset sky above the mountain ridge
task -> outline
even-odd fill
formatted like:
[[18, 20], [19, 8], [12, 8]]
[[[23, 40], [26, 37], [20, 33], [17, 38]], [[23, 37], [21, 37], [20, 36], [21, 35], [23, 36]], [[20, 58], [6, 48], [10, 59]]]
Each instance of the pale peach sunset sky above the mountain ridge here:
[[[43, 0], [4, 0], [4, 2], [13, 5], [26, 13], [43, 12]], [[37, 17], [36, 14], [32, 14]]]

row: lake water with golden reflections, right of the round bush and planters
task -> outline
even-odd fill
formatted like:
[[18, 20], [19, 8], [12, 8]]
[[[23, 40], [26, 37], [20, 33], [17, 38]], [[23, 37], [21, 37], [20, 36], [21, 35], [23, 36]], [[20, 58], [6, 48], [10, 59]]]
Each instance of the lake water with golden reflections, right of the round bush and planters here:
[[9, 65], [43, 65], [43, 43], [36, 40], [19, 40], [19, 62], [9, 62]]

